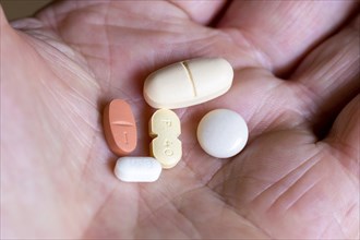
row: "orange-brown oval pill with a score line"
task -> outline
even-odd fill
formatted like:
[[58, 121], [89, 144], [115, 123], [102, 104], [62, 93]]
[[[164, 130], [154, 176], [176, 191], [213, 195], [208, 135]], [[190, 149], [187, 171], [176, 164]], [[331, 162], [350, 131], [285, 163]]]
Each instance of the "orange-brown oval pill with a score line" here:
[[136, 147], [136, 123], [130, 105], [121, 99], [111, 100], [104, 110], [104, 133], [110, 149], [124, 156]]

